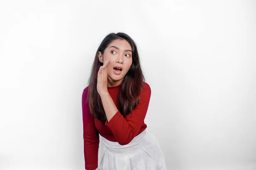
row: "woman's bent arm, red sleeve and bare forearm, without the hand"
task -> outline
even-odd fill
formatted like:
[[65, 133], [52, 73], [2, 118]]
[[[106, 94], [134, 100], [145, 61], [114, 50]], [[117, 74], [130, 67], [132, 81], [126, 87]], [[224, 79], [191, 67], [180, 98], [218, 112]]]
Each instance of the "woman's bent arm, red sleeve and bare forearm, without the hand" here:
[[151, 96], [151, 88], [145, 83], [140, 95], [140, 102], [125, 118], [116, 108], [110, 94], [101, 95], [102, 104], [107, 116], [105, 125], [112, 131], [117, 142], [121, 145], [128, 144], [139, 132], [147, 110]]

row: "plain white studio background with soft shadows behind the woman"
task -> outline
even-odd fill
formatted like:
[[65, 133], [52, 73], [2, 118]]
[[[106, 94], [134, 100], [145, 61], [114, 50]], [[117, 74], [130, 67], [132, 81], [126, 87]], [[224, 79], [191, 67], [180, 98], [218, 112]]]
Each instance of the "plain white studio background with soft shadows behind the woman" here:
[[84, 169], [81, 95], [111, 32], [138, 45], [169, 170], [256, 170], [256, 1], [1, 0], [0, 170]]

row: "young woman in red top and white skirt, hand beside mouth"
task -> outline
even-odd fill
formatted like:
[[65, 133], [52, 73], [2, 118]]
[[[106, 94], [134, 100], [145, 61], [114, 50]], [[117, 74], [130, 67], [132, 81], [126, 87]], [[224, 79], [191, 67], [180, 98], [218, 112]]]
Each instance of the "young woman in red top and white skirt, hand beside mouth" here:
[[[134, 41], [108, 34], [82, 94], [86, 170], [166, 170], [157, 139], [144, 123], [151, 96]], [[98, 166], [99, 135], [102, 158]]]

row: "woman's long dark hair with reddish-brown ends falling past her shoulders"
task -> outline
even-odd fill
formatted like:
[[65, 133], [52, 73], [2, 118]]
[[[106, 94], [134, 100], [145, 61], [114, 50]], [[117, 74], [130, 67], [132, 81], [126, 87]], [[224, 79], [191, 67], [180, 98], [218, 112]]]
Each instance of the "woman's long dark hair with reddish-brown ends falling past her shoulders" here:
[[108, 45], [113, 40], [117, 39], [128, 41], [132, 49], [132, 64], [129, 71], [125, 75], [122, 84], [120, 85], [120, 90], [118, 94], [117, 109], [124, 117], [131, 113], [131, 111], [138, 105], [140, 101], [140, 94], [143, 90], [145, 81], [142, 69], [140, 67], [140, 57], [134, 40], [132, 40], [131, 37], [122, 32], [119, 32], [117, 34], [108, 34], [96, 51], [93, 66], [91, 69], [90, 79], [88, 81], [89, 85], [87, 95], [87, 104], [89, 105], [92, 116], [96, 117], [96, 119], [100, 120], [104, 124], [107, 117], [102, 105], [102, 100], [97, 91], [98, 71], [99, 67], [103, 65], [102, 62], [99, 61], [98, 53], [100, 51], [103, 54]]

